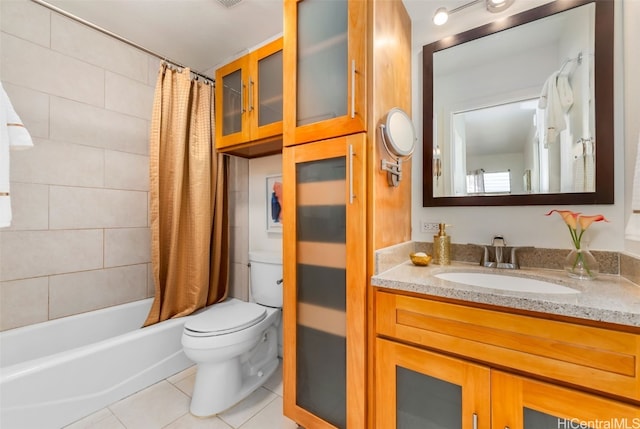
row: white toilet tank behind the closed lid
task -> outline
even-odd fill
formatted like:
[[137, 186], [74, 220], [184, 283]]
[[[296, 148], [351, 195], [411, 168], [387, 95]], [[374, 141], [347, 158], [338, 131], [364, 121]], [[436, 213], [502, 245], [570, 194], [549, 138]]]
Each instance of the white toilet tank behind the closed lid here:
[[269, 307], [282, 307], [282, 254], [249, 252], [249, 262], [253, 300]]

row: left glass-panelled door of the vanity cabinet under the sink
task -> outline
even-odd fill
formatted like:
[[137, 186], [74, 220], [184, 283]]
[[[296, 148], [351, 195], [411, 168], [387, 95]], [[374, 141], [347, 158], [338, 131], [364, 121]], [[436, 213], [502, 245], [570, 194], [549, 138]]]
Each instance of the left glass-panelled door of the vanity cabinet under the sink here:
[[376, 339], [376, 428], [489, 429], [490, 371]]

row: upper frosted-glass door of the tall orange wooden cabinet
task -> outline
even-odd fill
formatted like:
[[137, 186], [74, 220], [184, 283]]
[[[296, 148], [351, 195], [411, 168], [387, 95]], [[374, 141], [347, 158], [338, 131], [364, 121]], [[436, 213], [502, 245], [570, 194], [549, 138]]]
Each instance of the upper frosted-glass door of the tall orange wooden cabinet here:
[[367, 3], [285, 0], [285, 146], [366, 131]]

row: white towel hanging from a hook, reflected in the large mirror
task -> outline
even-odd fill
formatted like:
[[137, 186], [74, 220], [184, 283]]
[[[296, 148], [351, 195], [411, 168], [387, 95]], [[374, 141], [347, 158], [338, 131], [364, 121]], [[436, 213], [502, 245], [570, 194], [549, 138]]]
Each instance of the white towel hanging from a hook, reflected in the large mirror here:
[[573, 105], [573, 91], [566, 74], [554, 72], [544, 83], [538, 107], [544, 111], [544, 147], [558, 140], [560, 132], [567, 127], [565, 114]]

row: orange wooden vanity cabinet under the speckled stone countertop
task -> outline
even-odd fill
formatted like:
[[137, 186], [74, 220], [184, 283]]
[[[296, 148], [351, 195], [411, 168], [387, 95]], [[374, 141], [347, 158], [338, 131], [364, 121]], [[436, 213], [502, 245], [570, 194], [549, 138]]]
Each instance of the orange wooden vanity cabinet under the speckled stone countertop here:
[[636, 333], [381, 289], [375, 318], [376, 428], [640, 423]]

